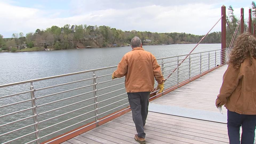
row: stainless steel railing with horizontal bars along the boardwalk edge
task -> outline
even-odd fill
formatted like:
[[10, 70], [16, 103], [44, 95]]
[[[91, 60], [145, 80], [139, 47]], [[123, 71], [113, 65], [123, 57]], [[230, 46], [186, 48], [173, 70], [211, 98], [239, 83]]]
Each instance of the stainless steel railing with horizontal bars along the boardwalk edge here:
[[[183, 58], [187, 55], [179, 55], [157, 59], [165, 78], [173, 74], [166, 79], [163, 93], [222, 65], [223, 57], [227, 63], [228, 54], [229, 50], [224, 53], [212, 50], [189, 54], [187, 58]], [[93, 124], [98, 126], [100, 121], [114, 115], [111, 113], [120, 109], [117, 113], [127, 110], [129, 102], [124, 77], [111, 80], [110, 75], [116, 67], [0, 85], [0, 143], [40, 143], [79, 126], [83, 127], [78, 130]], [[170, 73], [176, 68], [176, 71]], [[70, 76], [75, 77], [75, 81], [66, 81]], [[57, 83], [58, 78], [62, 78], [62, 83]], [[90, 125], [85, 126], [87, 123]]]

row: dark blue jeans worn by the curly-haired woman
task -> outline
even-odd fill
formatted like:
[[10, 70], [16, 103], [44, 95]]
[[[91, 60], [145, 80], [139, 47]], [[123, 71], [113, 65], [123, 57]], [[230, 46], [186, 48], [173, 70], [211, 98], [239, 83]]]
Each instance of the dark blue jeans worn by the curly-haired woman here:
[[227, 130], [230, 144], [240, 144], [240, 126], [242, 126], [241, 144], [253, 144], [256, 115], [238, 114], [227, 111]]

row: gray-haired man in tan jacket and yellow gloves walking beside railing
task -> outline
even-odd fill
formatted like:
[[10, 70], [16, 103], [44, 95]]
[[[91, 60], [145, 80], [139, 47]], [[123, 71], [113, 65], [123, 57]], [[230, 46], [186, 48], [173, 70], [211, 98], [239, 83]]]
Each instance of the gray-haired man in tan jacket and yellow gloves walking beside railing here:
[[158, 82], [158, 93], [162, 93], [165, 80], [154, 55], [142, 48], [138, 37], [131, 39], [131, 47], [133, 50], [123, 56], [117, 70], [112, 74], [112, 79], [125, 76], [125, 88], [138, 133], [134, 139], [139, 143], [146, 143], [144, 125], [148, 113], [149, 94], [154, 91], [154, 78]]

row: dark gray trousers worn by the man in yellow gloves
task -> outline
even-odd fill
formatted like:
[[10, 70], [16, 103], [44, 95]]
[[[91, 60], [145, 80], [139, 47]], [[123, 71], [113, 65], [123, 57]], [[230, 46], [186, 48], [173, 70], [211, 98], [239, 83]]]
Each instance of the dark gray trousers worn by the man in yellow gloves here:
[[133, 113], [133, 121], [138, 137], [145, 138], [144, 125], [147, 119], [150, 92], [127, 93]]

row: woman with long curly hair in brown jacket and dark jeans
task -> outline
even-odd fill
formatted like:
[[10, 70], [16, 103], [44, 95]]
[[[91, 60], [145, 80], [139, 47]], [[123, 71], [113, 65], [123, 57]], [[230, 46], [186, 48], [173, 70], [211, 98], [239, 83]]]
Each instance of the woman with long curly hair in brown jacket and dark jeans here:
[[239, 35], [229, 57], [229, 66], [215, 105], [227, 108], [230, 144], [253, 144], [256, 126], [256, 38]]

